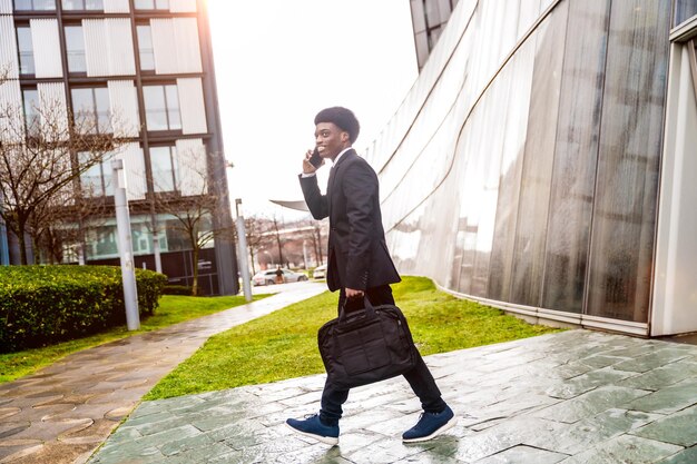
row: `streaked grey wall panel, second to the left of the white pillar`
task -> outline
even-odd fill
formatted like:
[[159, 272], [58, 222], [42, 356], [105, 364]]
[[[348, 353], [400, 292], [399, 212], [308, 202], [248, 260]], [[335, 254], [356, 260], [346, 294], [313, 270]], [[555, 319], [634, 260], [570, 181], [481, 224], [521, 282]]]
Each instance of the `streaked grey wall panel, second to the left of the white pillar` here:
[[572, 2], [569, 11], [542, 307], [573, 313], [582, 312], [588, 268], [609, 7]]

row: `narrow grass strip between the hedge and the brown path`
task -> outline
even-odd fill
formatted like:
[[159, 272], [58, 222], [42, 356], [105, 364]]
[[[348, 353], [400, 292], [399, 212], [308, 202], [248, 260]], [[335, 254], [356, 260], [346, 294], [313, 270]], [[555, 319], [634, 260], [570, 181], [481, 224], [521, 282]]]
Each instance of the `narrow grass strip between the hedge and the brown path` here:
[[[259, 299], [268, 295], [255, 295]], [[155, 315], [141, 320], [140, 329], [128, 332], [126, 326], [115, 327], [108, 332], [79, 338], [42, 348], [27, 349], [23, 352], [0, 354], [0, 383], [10, 382], [19, 377], [32, 374], [41, 367], [56, 363], [70, 353], [91, 348], [108, 342], [126, 338], [131, 335], [150, 332], [183, 323], [196, 317], [218, 313], [223, 309], [244, 305], [244, 296], [219, 297], [193, 297], [165, 295], [159, 300], [159, 308]]]

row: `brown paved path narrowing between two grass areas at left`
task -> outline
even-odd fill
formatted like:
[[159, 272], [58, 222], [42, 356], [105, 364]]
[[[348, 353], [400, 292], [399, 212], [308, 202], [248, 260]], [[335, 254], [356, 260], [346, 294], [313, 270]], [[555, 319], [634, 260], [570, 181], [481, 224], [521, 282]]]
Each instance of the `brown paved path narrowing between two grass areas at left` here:
[[265, 299], [76, 353], [0, 385], [0, 463], [85, 462], [208, 337], [326, 289], [316, 283], [282, 287]]

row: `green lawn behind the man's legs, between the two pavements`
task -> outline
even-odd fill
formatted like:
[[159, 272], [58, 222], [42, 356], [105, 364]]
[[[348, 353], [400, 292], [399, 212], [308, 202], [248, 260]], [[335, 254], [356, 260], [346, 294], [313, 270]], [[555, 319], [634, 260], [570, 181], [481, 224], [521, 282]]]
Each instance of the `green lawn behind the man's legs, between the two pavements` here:
[[[458, 299], [423, 277], [405, 277], [393, 290], [424, 356], [559, 330]], [[336, 316], [336, 299], [327, 292], [212, 337], [145, 399], [323, 373], [316, 336]]]

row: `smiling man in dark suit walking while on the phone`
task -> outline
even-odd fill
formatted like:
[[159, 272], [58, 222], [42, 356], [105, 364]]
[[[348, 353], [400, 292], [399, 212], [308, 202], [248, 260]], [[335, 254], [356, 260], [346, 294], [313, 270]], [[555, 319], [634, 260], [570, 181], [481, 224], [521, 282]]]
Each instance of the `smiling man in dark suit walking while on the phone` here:
[[[390, 284], [400, 282], [400, 275], [385, 244], [377, 176], [352, 148], [359, 136], [359, 121], [351, 110], [332, 107], [320, 111], [314, 122], [321, 161], [333, 162], [326, 195], [320, 191], [315, 166], [321, 165], [311, 162], [312, 151], [305, 155], [300, 181], [313, 217], [330, 218], [327, 286], [332, 292], [340, 290], [338, 308], [345, 305], [346, 312], [362, 308], [363, 296], [374, 306], [394, 305]], [[455, 423], [431, 372], [416, 348], [413, 349], [416, 366], [404, 378], [421, 399], [424, 412], [416, 425], [402, 435], [405, 443], [431, 440]], [[320, 414], [305, 419], [289, 418], [286, 423], [300, 434], [335, 445], [342, 405], [347, 397], [347, 389], [332, 385], [327, 378]]]

